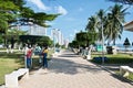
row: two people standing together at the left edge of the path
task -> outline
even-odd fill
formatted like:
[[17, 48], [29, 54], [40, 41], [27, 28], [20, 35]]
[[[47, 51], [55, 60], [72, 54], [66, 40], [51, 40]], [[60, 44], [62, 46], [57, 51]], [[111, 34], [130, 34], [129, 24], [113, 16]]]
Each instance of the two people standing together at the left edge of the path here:
[[[25, 67], [31, 68], [32, 67], [32, 55], [33, 55], [33, 48], [31, 46], [25, 45]], [[43, 68], [48, 68], [48, 46], [43, 46], [42, 50], [38, 53], [39, 55], [39, 63]]]

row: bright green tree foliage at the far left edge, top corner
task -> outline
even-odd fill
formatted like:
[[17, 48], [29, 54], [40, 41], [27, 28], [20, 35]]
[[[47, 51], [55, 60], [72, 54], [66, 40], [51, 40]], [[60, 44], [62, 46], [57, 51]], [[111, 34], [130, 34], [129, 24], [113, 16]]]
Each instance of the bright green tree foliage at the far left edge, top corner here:
[[12, 0], [0, 1], [0, 33], [4, 34], [4, 43], [7, 43], [9, 23], [14, 22], [17, 11], [19, 11], [19, 8]]

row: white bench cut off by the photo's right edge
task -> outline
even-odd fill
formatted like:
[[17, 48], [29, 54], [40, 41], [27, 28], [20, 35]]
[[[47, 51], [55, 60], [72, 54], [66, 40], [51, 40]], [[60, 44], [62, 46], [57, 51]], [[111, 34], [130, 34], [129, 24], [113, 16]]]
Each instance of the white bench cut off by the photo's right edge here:
[[129, 77], [130, 74], [133, 74], [133, 68], [130, 66], [120, 66], [120, 75], [123, 77]]

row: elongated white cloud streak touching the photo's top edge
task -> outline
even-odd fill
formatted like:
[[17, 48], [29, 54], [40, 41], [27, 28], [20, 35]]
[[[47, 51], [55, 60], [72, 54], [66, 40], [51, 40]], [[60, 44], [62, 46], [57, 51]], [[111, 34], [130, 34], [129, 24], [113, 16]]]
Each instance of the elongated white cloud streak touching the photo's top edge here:
[[41, 10], [50, 10], [49, 7], [47, 7], [41, 0], [28, 0], [29, 2], [32, 2]]

